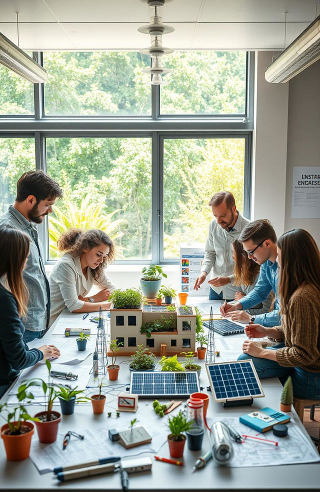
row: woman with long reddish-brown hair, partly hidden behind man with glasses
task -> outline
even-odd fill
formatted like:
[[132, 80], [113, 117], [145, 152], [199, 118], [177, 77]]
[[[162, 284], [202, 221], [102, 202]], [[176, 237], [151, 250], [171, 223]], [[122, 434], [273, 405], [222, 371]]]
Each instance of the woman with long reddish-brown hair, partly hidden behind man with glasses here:
[[[238, 239], [234, 239], [232, 242], [232, 259], [234, 261], [233, 285], [239, 285], [241, 290], [238, 290], [234, 295], [234, 300], [241, 300], [244, 295], [251, 292], [254, 288], [257, 279], [259, 277], [260, 265], [252, 261], [248, 255], [243, 252], [242, 243]], [[269, 293], [267, 298], [260, 304], [248, 309], [246, 312], [249, 314], [263, 314], [269, 312], [273, 301], [272, 292]], [[245, 311], [244, 311], [245, 312]], [[244, 320], [243, 322], [248, 321]]]

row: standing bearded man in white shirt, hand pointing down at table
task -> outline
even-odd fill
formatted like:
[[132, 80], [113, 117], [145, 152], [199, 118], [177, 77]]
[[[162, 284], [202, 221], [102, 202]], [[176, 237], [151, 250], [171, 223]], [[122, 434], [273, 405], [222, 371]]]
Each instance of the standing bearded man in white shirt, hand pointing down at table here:
[[238, 286], [232, 285], [232, 241], [239, 237], [250, 220], [242, 217], [236, 209], [234, 196], [229, 191], [215, 193], [209, 201], [209, 206], [212, 208], [214, 218], [209, 224], [201, 273], [195, 280], [193, 288], [195, 290], [200, 288], [213, 267], [213, 278], [208, 280], [209, 300], [233, 300]]

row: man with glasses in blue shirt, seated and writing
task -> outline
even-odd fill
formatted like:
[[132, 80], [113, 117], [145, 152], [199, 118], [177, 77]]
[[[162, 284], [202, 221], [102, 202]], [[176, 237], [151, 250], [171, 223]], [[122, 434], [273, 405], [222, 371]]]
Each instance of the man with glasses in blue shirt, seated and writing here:
[[273, 310], [257, 314], [254, 323], [263, 326], [277, 326], [280, 324], [279, 302], [277, 298], [277, 252], [275, 231], [266, 219], [254, 220], [244, 227], [238, 239], [243, 246], [243, 255], [261, 265], [259, 278], [254, 288], [240, 301], [227, 303], [220, 307], [222, 316], [233, 321], [247, 323], [251, 315], [244, 309], [264, 301], [271, 290], [275, 294]]

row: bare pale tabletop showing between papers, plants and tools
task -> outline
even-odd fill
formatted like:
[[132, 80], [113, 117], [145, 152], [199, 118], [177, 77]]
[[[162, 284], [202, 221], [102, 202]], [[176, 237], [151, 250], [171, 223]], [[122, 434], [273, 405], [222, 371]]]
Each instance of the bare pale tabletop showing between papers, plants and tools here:
[[[191, 300], [191, 299], [190, 299]], [[199, 298], [192, 299], [192, 303], [196, 303]], [[202, 299], [203, 300], [203, 299]], [[191, 303], [191, 302], [190, 302]], [[90, 314], [91, 315], [91, 314]], [[60, 317], [68, 317], [64, 311], [60, 314]], [[80, 314], [72, 314], [82, 319]], [[56, 321], [55, 321], [56, 322]], [[52, 332], [54, 325], [50, 328], [48, 333]], [[56, 345], [58, 346], [58, 340], [60, 335], [56, 336]], [[221, 337], [215, 335], [217, 340], [220, 340], [222, 349], [219, 360], [234, 360], [234, 354], [241, 352], [241, 344], [244, 335], [231, 335]], [[64, 337], [63, 337], [64, 338]], [[41, 340], [42, 341], [42, 340]], [[45, 342], [45, 337], [43, 338]], [[238, 343], [238, 349], [236, 345]], [[39, 345], [42, 344], [41, 342]], [[223, 347], [228, 347], [227, 350]], [[106, 404], [104, 413], [101, 415], [94, 415], [92, 413], [91, 404], [79, 404], [75, 408], [75, 412], [72, 415], [63, 415], [62, 421], [59, 424], [59, 431], [67, 431], [70, 428], [100, 428], [104, 426], [106, 428], [114, 428], [115, 420], [108, 419], [107, 411], [115, 408], [116, 394], [118, 388], [116, 385], [129, 383], [129, 371], [127, 369], [128, 357], [119, 357], [120, 371], [117, 381], [108, 381], [108, 391], [111, 386], [114, 386], [114, 390], [107, 393]], [[205, 371], [204, 361], [198, 361], [202, 366], [200, 376], [200, 386], [203, 386], [204, 390], [208, 385], [208, 380]], [[74, 366], [70, 366], [70, 368]], [[56, 367], [58, 369], [58, 367]], [[263, 379], [262, 386], [264, 390], [264, 398], [255, 398], [252, 406], [238, 406], [223, 408], [220, 403], [216, 403], [212, 396], [210, 396], [208, 406], [208, 417], [214, 417], [215, 419], [225, 418], [227, 416], [238, 417], [240, 414], [250, 412], [254, 409], [263, 408], [264, 406], [270, 406], [273, 408], [279, 407], [279, 397], [281, 392], [281, 385], [276, 378]], [[123, 390], [121, 388], [120, 390]], [[210, 393], [209, 393], [210, 394]], [[5, 400], [5, 396], [2, 398], [2, 402]], [[151, 410], [150, 400], [140, 399], [139, 407], [134, 415], [141, 425], [143, 421], [158, 425], [158, 417]], [[34, 411], [33, 411], [34, 410]], [[39, 405], [32, 405], [30, 413], [34, 414], [39, 411]], [[294, 410], [292, 410], [292, 419], [299, 425], [305, 435], [307, 435], [303, 425], [298, 419]], [[117, 421], [120, 421], [117, 420]], [[165, 437], [165, 436], [164, 436]], [[34, 437], [33, 437], [34, 438]], [[310, 446], [313, 443], [310, 440]], [[279, 466], [263, 466], [263, 467], [222, 467], [217, 466], [212, 460], [207, 466], [201, 470], [191, 473], [192, 466], [195, 459], [208, 449], [208, 440], [205, 436], [203, 441], [202, 451], [190, 451], [185, 445], [183, 453], [184, 466], [174, 466], [167, 463], [157, 462], [153, 460], [153, 453], [146, 453], [152, 457], [152, 470], [145, 473], [134, 473], [129, 477], [129, 490], [319, 490], [320, 488], [320, 463], [309, 464], [293, 464], [293, 465], [279, 465]], [[137, 448], [135, 448], [137, 449]], [[130, 450], [127, 451], [128, 456], [132, 454]], [[134, 451], [136, 452], [136, 451]], [[169, 457], [167, 444], [165, 443], [159, 452], [162, 456]], [[67, 489], [80, 489], [80, 490], [104, 490], [109, 491], [121, 490], [120, 478], [118, 473], [98, 475], [92, 478], [84, 478], [73, 481], [67, 481], [59, 483], [52, 473], [46, 473], [40, 475], [32, 464], [30, 459], [26, 459], [20, 462], [10, 462], [5, 458], [4, 447], [0, 445], [0, 476], [1, 490], [57, 490], [59, 487]]]

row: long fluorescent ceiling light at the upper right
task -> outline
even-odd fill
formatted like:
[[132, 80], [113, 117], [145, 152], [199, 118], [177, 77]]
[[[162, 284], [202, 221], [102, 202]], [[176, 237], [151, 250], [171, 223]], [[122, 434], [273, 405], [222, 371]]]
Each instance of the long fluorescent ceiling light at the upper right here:
[[267, 82], [287, 82], [320, 58], [320, 15], [266, 68]]

